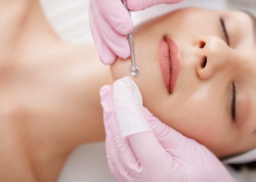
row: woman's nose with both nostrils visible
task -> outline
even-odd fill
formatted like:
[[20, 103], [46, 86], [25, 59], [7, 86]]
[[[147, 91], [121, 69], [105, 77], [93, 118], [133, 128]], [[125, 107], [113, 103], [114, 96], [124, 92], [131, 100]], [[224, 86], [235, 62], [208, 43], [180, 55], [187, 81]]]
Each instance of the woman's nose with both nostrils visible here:
[[200, 36], [195, 41], [197, 47], [197, 75], [208, 79], [215, 73], [229, 67], [231, 49], [219, 37]]

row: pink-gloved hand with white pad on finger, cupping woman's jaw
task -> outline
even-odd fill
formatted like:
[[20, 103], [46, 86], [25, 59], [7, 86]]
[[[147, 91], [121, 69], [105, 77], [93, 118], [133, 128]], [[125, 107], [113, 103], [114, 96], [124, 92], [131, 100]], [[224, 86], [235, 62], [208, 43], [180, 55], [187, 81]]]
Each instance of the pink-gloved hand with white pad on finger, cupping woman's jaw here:
[[[114, 82], [113, 91], [109, 85], [103, 86], [100, 91], [106, 131], [106, 154], [110, 172], [118, 182], [235, 181], [225, 166], [205, 146], [166, 126], [147, 108], [142, 107], [140, 95], [137, 94], [138, 87], [131, 79], [124, 78]], [[119, 103], [118, 108], [116, 102]], [[122, 124], [120, 118], [126, 118], [128, 122], [139, 122], [133, 111], [129, 113], [126, 110], [131, 107], [130, 104], [134, 104], [137, 110], [140, 108], [139, 115], [144, 116], [153, 131], [141, 129], [142, 132], [129, 135], [132, 127], [138, 124], [131, 126], [128, 123], [128, 137], [121, 138], [120, 132], [124, 128], [120, 128], [119, 132], [118, 125], [122, 127], [124, 123]], [[120, 117], [121, 114], [123, 116]], [[143, 123], [139, 124], [142, 125]]]

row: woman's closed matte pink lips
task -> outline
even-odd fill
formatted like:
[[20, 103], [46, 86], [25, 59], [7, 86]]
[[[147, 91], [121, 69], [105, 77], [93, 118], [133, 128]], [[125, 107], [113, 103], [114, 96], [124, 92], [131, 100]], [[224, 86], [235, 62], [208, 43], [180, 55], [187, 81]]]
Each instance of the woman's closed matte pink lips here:
[[[161, 68], [163, 83], [167, 91], [172, 94], [181, 70], [181, 62], [178, 58], [179, 49], [170, 37], [165, 37], [159, 42], [159, 65]], [[170, 58], [170, 59], [169, 59]]]

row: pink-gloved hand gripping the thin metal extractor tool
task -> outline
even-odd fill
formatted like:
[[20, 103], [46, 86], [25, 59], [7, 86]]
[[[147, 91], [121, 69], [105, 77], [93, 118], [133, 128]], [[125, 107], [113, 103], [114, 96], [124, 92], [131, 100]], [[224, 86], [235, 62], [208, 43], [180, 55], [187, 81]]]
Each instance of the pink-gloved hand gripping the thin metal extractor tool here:
[[[139, 11], [161, 3], [181, 0], [127, 0], [131, 11]], [[121, 0], [90, 0], [91, 33], [103, 64], [112, 64], [116, 56], [126, 59], [130, 47], [126, 35], [133, 29], [131, 17]]]

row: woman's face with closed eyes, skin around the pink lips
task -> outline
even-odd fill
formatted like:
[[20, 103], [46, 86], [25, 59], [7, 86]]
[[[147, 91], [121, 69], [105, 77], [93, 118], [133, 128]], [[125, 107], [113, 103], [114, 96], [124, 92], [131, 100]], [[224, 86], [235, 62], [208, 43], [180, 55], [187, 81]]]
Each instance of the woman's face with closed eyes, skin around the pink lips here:
[[[186, 8], [146, 22], [133, 33], [139, 76], [131, 75], [131, 57], [117, 58], [111, 66], [113, 79], [132, 78], [145, 107], [218, 157], [252, 149], [256, 146], [253, 21], [240, 11]], [[159, 66], [159, 42], [164, 37], [176, 42], [181, 62], [171, 93]]]

